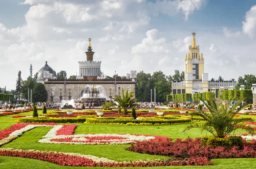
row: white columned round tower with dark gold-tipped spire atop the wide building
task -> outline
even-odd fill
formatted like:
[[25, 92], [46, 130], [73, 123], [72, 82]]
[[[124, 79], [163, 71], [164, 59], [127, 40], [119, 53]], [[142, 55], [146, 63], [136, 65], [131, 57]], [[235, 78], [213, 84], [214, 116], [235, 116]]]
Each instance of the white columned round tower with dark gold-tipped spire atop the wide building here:
[[84, 77], [100, 77], [100, 66], [101, 66], [101, 61], [93, 61], [93, 54], [94, 52], [92, 51], [92, 46], [91, 46], [91, 38], [89, 40], [89, 46], [87, 49], [86, 57], [87, 60], [84, 61], [79, 61], [79, 75], [77, 78], [81, 79]]

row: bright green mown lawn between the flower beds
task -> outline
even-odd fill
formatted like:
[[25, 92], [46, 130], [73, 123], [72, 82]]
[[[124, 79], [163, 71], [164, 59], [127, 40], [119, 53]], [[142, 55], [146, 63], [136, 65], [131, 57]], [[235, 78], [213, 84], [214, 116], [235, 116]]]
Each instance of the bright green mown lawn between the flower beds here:
[[[41, 111], [38, 111], [41, 114]], [[32, 115], [32, 112], [20, 113], [19, 115]], [[12, 118], [14, 115], [0, 117], [0, 130], [6, 129], [15, 123], [16, 118]], [[243, 115], [242, 115], [243, 116]], [[244, 115], [247, 116], [247, 115]], [[254, 116], [253, 116], [254, 118]], [[92, 125], [77, 123], [75, 134], [89, 134], [89, 133], [126, 133], [126, 134], [141, 134], [141, 135], [162, 135], [175, 138], [187, 138], [187, 137], [201, 137], [206, 135], [199, 129], [189, 130], [186, 134], [183, 134], [183, 129], [188, 124], [180, 125], [166, 125], [166, 126], [116, 126], [116, 125]], [[37, 143], [51, 127], [37, 127], [24, 133], [21, 137], [13, 140], [1, 148], [14, 148], [14, 149], [35, 149], [35, 150], [47, 150], [56, 152], [77, 152], [81, 154], [95, 155], [97, 157], [105, 157], [116, 161], [128, 161], [128, 160], [147, 160], [147, 159], [168, 159], [165, 156], [146, 155], [140, 153], [134, 153], [126, 151], [125, 149], [129, 145], [70, 145], [70, 144], [50, 144], [50, 143]], [[243, 131], [237, 131], [236, 133], [242, 133]], [[182, 166], [182, 167], [154, 167], [155, 169], [250, 169], [255, 168], [252, 163], [256, 162], [256, 159], [214, 159], [215, 166]], [[11, 165], [10, 165], [11, 164]], [[0, 168], [2, 169], [59, 169], [59, 168], [79, 168], [79, 167], [67, 167], [58, 166], [56, 164], [24, 158], [12, 158], [0, 156]], [[80, 167], [81, 168], [81, 167]], [[96, 167], [87, 167], [87, 169], [95, 169]], [[103, 168], [103, 167], [102, 167]], [[114, 167], [111, 167], [113, 169]], [[135, 167], [134, 167], [135, 168]], [[144, 167], [148, 168], [148, 167]], [[120, 168], [119, 168], [120, 169]]]

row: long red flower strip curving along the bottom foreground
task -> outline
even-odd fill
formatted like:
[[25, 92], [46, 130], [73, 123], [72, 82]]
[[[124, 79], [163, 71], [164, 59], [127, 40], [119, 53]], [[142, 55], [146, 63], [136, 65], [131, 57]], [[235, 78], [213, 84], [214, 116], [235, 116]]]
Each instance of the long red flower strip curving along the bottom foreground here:
[[32, 158], [36, 160], [48, 161], [61, 166], [90, 166], [90, 167], [153, 167], [153, 166], [184, 166], [184, 165], [212, 165], [209, 160], [204, 158], [184, 160], [153, 160], [153, 161], [132, 161], [132, 162], [96, 162], [90, 158], [84, 158], [76, 155], [67, 155], [55, 152], [31, 152], [31, 151], [11, 151], [0, 150], [1, 156]]

